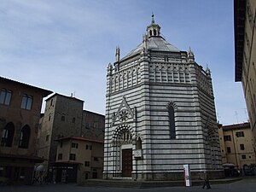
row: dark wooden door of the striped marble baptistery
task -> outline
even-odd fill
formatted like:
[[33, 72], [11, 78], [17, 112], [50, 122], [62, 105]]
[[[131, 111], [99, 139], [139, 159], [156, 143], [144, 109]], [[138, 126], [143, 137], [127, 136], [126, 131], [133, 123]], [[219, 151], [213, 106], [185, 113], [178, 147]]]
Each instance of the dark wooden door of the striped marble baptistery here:
[[131, 177], [132, 171], [132, 149], [122, 150], [122, 177]]

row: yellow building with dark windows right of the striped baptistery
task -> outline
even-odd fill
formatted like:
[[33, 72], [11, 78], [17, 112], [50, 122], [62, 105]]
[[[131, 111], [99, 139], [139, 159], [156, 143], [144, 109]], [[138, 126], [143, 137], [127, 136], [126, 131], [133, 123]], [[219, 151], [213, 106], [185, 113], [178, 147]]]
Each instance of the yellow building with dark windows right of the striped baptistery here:
[[219, 125], [218, 129], [223, 164], [233, 164], [238, 169], [256, 164], [256, 148], [249, 123]]

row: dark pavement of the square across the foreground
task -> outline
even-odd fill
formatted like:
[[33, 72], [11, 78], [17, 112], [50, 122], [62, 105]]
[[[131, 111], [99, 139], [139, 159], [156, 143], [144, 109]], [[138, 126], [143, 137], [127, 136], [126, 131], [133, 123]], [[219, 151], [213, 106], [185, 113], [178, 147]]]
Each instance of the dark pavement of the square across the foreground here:
[[[246, 177], [235, 183], [212, 184], [214, 192], [255, 192], [256, 177]], [[201, 186], [194, 187], [168, 187], [154, 189], [128, 189], [128, 188], [103, 188], [103, 187], [81, 187], [76, 184], [42, 184], [42, 185], [20, 185], [20, 186], [0, 186], [1, 192], [200, 192]]]

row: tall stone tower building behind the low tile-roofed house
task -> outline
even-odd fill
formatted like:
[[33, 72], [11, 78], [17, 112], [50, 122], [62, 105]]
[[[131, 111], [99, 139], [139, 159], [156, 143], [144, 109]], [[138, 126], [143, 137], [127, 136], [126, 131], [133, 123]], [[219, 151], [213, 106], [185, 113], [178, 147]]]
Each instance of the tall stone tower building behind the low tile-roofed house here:
[[47, 98], [44, 115], [40, 119], [37, 144], [38, 156], [45, 159], [45, 174], [57, 157], [56, 139], [86, 137], [103, 141], [104, 115], [83, 110], [83, 107], [84, 101], [73, 96], [55, 93]]

